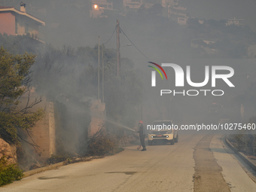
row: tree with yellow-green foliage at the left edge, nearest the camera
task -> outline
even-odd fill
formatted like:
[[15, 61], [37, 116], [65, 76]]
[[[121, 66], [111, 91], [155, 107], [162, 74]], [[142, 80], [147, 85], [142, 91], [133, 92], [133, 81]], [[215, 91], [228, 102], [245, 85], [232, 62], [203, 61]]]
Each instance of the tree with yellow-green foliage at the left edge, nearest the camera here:
[[32, 129], [44, 117], [41, 108], [35, 112], [29, 111], [29, 108], [41, 102], [41, 98], [25, 108], [17, 108], [20, 97], [29, 93], [32, 80], [30, 68], [34, 62], [35, 55], [24, 53], [14, 56], [3, 47], [0, 49], [0, 137], [16, 145], [23, 140], [18, 131]]

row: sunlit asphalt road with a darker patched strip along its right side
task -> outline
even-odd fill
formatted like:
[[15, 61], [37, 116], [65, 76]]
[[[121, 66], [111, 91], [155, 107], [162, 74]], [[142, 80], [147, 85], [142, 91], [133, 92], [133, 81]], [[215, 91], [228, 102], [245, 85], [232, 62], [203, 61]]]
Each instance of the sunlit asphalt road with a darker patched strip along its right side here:
[[41, 172], [0, 191], [256, 191], [255, 173], [224, 146], [221, 136], [182, 135], [175, 145], [136, 148]]

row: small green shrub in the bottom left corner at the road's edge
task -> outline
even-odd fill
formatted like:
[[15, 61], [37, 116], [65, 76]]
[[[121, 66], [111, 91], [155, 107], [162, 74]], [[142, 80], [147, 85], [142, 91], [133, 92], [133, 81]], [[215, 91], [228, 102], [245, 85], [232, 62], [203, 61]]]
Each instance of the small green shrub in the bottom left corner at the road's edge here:
[[23, 171], [18, 168], [17, 164], [8, 164], [5, 156], [0, 159], [0, 187], [10, 184], [12, 181], [20, 180], [23, 177]]

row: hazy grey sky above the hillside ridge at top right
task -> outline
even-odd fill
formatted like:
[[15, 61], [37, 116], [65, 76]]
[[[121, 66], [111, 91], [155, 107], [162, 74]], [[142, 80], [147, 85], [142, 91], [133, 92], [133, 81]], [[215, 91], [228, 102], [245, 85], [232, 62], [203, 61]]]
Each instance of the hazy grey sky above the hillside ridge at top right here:
[[256, 32], [255, 0], [180, 0], [179, 4], [187, 7], [187, 13], [191, 17], [206, 20], [242, 18], [244, 23], [251, 26], [251, 29]]

